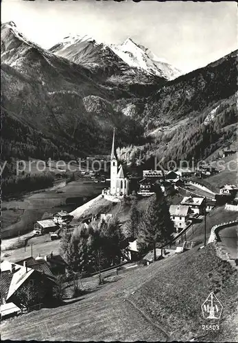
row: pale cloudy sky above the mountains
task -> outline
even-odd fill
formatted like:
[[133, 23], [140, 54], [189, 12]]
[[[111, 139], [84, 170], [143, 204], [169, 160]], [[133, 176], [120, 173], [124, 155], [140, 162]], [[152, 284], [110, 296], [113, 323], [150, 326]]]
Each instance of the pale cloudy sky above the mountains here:
[[64, 36], [122, 43], [128, 36], [182, 71], [237, 49], [237, 3], [2, 0], [1, 22], [49, 48]]

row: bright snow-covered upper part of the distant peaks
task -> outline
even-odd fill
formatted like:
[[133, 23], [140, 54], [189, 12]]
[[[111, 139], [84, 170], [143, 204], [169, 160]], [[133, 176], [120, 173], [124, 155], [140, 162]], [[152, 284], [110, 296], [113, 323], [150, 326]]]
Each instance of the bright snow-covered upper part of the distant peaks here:
[[88, 35], [70, 35], [51, 47], [49, 51], [76, 63], [85, 64], [86, 60], [90, 60], [91, 66], [95, 60], [102, 60], [103, 56], [106, 56], [106, 64], [111, 65], [112, 61], [121, 61], [119, 63], [124, 67], [126, 63], [128, 67], [140, 69], [145, 75], [156, 75], [165, 80], [173, 80], [182, 74], [164, 58], [158, 58], [150, 49], [135, 43], [131, 37], [126, 38], [119, 45], [114, 45], [99, 42]]

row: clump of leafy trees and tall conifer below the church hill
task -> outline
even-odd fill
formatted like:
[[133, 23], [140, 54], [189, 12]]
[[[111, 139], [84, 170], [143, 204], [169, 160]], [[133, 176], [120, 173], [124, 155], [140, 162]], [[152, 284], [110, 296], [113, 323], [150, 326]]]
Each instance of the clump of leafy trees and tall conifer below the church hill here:
[[156, 186], [156, 195], [148, 200], [143, 211], [134, 198], [126, 228], [122, 228], [118, 217], [91, 222], [87, 228], [80, 224], [73, 233], [62, 233], [61, 250], [71, 273], [97, 272], [101, 283], [102, 270], [128, 259], [130, 241], [137, 239], [142, 255], [153, 250], [156, 261], [156, 248], [161, 248], [162, 255], [162, 247], [171, 241], [173, 232], [169, 206]]

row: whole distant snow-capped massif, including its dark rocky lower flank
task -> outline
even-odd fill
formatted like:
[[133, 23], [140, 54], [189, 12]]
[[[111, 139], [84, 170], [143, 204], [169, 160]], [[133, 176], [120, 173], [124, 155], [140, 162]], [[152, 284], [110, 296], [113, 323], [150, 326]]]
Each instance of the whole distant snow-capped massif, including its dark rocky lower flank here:
[[152, 75], [158, 76], [160, 83], [181, 75], [181, 71], [157, 58], [149, 49], [134, 43], [131, 38], [127, 38], [121, 45], [106, 45], [88, 36], [68, 36], [49, 51], [84, 65], [93, 73], [104, 75], [111, 82], [115, 81], [112, 75], [123, 75], [124, 78], [128, 76], [128, 83], [134, 82], [136, 75], [140, 83], [142, 80], [150, 81]]

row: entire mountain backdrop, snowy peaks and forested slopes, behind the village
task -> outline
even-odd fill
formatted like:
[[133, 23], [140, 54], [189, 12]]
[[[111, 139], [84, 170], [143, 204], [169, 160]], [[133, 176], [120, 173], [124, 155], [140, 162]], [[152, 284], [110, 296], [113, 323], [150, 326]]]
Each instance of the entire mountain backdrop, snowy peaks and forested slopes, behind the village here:
[[[128, 38], [45, 50], [1, 25], [2, 160], [108, 154], [206, 158], [235, 140], [237, 51], [182, 75]], [[128, 154], [129, 153], [129, 154]]]

